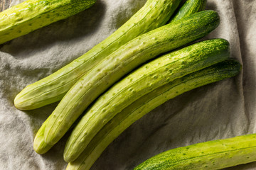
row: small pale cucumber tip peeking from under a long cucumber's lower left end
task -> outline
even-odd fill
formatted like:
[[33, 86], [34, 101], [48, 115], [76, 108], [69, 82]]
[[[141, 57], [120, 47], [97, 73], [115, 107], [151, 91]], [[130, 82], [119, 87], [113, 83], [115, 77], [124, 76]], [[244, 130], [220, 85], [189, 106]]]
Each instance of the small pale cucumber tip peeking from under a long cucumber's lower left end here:
[[38, 154], [45, 154], [46, 152], [48, 152], [48, 150], [51, 147], [53, 147], [53, 145], [47, 145], [46, 142], [44, 142], [44, 130], [46, 128], [46, 123], [48, 122], [49, 119], [50, 119], [50, 116], [46, 119], [46, 121], [43, 123], [41, 128], [39, 128], [33, 142], [33, 149]]

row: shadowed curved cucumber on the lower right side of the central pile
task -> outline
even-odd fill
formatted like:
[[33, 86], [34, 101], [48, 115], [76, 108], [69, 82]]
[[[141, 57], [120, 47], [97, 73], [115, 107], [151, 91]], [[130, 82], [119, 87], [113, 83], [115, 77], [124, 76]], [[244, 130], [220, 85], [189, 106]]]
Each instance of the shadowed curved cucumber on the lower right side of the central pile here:
[[92, 141], [85, 147], [78, 159], [70, 162], [66, 170], [87, 170], [100, 157], [100, 154], [110, 143], [117, 138], [125, 129], [132, 125], [136, 120], [142, 118], [149, 111], [160, 106], [162, 103], [174, 98], [180, 94], [196, 89], [199, 86], [220, 81], [233, 77], [240, 72], [240, 64], [234, 60], [219, 62], [211, 67], [193, 72], [175, 79], [174, 81], [160, 86], [154, 91], [149, 92], [141, 98], [134, 101], [131, 105], [124, 108], [120, 113], [114, 116]]

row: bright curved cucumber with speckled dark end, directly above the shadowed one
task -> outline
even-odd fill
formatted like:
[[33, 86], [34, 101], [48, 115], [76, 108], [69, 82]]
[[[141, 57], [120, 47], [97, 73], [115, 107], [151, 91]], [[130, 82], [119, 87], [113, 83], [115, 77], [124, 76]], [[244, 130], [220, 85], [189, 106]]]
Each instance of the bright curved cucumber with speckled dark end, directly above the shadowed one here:
[[100, 96], [75, 126], [65, 145], [65, 161], [73, 162], [103, 125], [133, 101], [174, 79], [226, 60], [228, 56], [227, 40], [207, 40], [163, 55], [129, 74]]

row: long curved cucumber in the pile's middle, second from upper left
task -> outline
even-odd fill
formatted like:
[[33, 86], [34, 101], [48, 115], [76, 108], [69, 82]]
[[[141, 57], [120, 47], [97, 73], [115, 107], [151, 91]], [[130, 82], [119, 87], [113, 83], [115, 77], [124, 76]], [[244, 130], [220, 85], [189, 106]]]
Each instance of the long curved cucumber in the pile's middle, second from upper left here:
[[46, 125], [45, 142], [49, 145], [58, 142], [85, 108], [124, 74], [163, 52], [202, 38], [219, 21], [215, 11], [201, 11], [122, 45], [87, 72], [63, 97]]

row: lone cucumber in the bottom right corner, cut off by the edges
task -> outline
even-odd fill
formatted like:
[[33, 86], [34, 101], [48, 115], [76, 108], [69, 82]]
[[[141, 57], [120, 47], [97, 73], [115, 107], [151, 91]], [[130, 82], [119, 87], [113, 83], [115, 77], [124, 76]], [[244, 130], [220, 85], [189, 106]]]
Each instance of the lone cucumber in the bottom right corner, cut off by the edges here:
[[134, 170], [224, 169], [256, 161], [256, 134], [213, 140], [171, 149], [151, 157]]

